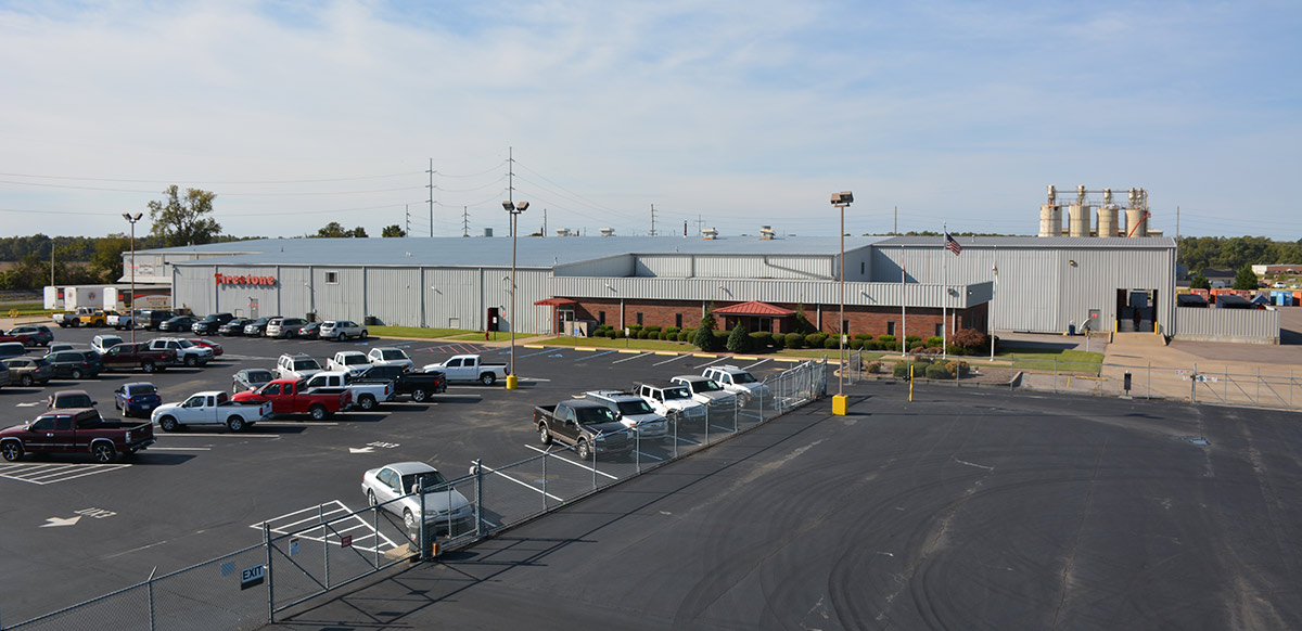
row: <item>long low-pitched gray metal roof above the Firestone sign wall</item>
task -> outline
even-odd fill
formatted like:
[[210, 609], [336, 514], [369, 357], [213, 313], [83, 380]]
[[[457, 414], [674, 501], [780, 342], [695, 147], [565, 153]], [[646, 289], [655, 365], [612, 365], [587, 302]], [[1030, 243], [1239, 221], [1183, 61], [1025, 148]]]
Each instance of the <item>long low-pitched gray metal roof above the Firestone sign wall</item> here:
[[[868, 247], [879, 238], [846, 238], [846, 251]], [[510, 238], [341, 238], [341, 239], [259, 239], [203, 246], [142, 250], [141, 254], [220, 255], [223, 264], [256, 265], [510, 265]], [[836, 237], [790, 237], [760, 239], [729, 237], [719, 239], [674, 237], [521, 237], [517, 239], [518, 267], [552, 267], [625, 254], [697, 255], [836, 255]], [[178, 260], [174, 265], [212, 264], [211, 259]]]

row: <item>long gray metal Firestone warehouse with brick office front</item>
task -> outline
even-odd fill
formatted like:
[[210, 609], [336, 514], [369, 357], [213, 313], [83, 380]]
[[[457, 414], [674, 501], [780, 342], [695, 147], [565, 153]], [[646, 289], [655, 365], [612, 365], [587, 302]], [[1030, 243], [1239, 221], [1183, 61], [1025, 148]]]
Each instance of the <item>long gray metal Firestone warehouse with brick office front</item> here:
[[[846, 238], [842, 327], [930, 336], [944, 317], [950, 332], [1060, 333], [1090, 323], [1174, 333], [1172, 238], [957, 239], [958, 255], [941, 237]], [[784, 314], [803, 310], [835, 332], [841, 302], [835, 237], [523, 237], [516, 316], [510, 238], [259, 239], [135, 259], [137, 282], [171, 284], [174, 304], [197, 314], [374, 316], [406, 327], [483, 330], [497, 315], [500, 330], [547, 333], [566, 320], [622, 327], [669, 312], [693, 327], [712, 306], [746, 317], [751, 330], [781, 330]]]

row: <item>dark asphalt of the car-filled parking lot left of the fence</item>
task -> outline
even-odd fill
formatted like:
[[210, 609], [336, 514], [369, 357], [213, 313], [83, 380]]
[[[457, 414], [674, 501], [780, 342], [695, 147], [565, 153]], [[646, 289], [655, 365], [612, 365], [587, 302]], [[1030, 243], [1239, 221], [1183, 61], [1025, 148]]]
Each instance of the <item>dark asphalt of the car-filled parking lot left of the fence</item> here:
[[[56, 341], [86, 346], [112, 329], [55, 329]], [[129, 333], [122, 336], [130, 338]], [[137, 332], [138, 340], [160, 337]], [[307, 353], [323, 364], [339, 350], [398, 346], [417, 364], [482, 351], [505, 362], [509, 350], [475, 343], [370, 338], [353, 342], [214, 338], [224, 355], [203, 368], [163, 373], [111, 372], [99, 379], [56, 381], [46, 388], [4, 388], [10, 424], [30, 420], [59, 389], [85, 389], [105, 416], [113, 390], [132, 381], [159, 386], [165, 402], [202, 390], [230, 389], [241, 368], [273, 368], [283, 353]], [[276, 419], [250, 431], [191, 428], [163, 433], [146, 451], [113, 464], [89, 457], [27, 457], [0, 462], [0, 621], [20, 622], [262, 540], [260, 524], [293, 519], [322, 505], [357, 510], [365, 470], [398, 461], [423, 461], [465, 474], [471, 461], [516, 462], [534, 451], [533, 407], [595, 388], [700, 373], [721, 363], [690, 354], [517, 346], [519, 390], [453, 384], [428, 403], [400, 401], [370, 412], [350, 411], [324, 422]], [[790, 364], [759, 359], [756, 376]]]

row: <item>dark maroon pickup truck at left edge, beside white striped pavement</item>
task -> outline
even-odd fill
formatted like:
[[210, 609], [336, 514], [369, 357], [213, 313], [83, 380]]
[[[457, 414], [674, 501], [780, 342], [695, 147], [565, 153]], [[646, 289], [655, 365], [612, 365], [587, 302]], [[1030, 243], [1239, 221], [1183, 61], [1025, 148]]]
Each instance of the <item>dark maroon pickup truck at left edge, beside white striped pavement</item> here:
[[94, 407], [48, 410], [30, 423], [0, 431], [0, 455], [20, 461], [23, 454], [91, 454], [113, 462], [154, 444], [151, 423], [104, 420]]

